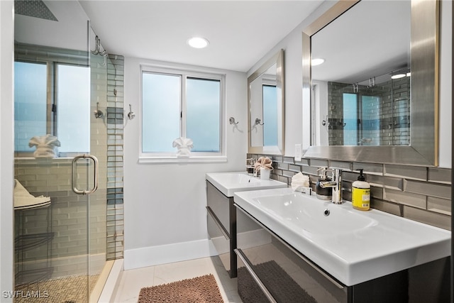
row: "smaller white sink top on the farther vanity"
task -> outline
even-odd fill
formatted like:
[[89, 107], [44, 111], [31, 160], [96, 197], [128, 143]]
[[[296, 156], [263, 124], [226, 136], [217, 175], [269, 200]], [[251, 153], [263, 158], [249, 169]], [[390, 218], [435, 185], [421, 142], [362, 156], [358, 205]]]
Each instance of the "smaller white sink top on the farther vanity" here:
[[206, 174], [206, 180], [226, 197], [233, 197], [234, 192], [246, 190], [287, 187], [284, 182], [261, 180], [260, 177], [250, 176], [247, 172], [209, 172]]

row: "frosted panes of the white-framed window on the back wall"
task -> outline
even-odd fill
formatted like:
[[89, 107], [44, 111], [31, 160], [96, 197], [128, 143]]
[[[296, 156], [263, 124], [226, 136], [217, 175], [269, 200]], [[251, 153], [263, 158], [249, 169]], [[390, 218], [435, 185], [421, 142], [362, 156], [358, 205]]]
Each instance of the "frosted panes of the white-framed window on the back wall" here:
[[142, 158], [175, 158], [173, 141], [191, 138], [191, 157], [222, 155], [222, 75], [142, 68]]

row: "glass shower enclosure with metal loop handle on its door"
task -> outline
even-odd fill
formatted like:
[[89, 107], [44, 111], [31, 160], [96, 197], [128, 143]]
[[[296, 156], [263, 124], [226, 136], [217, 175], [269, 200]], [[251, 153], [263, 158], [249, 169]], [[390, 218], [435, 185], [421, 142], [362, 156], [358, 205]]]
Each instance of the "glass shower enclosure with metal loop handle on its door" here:
[[[78, 1], [15, 1], [15, 13], [16, 290], [96, 301], [106, 263], [105, 58], [93, 60]], [[41, 196], [50, 203], [35, 203]]]

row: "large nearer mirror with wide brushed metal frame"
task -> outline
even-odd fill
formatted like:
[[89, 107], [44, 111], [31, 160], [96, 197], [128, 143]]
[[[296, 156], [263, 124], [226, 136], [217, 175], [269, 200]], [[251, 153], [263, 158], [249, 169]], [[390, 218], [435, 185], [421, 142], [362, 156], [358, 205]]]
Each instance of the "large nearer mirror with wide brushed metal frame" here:
[[306, 157], [438, 165], [438, 5], [338, 1], [305, 29]]

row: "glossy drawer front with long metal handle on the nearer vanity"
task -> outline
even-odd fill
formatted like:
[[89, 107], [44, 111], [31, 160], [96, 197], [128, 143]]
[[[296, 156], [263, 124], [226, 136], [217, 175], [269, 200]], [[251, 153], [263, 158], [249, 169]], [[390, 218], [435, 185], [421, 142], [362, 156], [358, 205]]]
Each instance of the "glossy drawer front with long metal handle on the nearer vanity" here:
[[235, 250], [238, 294], [244, 302], [266, 302], [262, 296], [270, 302], [348, 302], [348, 287], [236, 207], [238, 224], [243, 220], [253, 221], [258, 226], [254, 233], [260, 235], [253, 237], [255, 243], [238, 240]]

